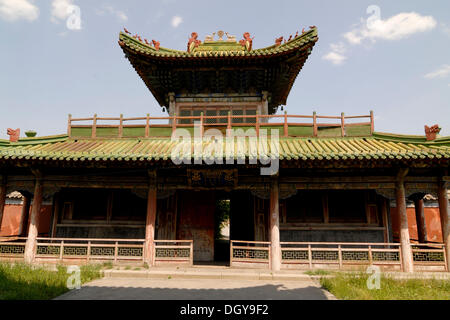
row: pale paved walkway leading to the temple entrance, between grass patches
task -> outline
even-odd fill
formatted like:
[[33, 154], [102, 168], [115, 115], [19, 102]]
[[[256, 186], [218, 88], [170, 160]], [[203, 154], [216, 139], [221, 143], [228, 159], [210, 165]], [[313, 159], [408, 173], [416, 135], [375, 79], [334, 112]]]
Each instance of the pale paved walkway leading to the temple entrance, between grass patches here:
[[297, 281], [103, 278], [56, 300], [334, 300], [310, 278]]

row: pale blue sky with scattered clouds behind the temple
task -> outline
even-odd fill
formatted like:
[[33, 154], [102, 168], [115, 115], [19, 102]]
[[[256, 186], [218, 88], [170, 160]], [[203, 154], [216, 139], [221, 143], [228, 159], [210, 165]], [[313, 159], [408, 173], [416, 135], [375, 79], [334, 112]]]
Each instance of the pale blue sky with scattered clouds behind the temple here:
[[7, 128], [64, 133], [69, 113], [160, 115], [117, 43], [123, 27], [185, 50], [193, 31], [202, 40], [217, 30], [238, 39], [248, 31], [259, 48], [310, 25], [319, 41], [288, 113], [373, 110], [377, 131], [424, 134], [425, 124], [438, 123], [450, 135], [447, 0], [0, 0], [0, 138]]

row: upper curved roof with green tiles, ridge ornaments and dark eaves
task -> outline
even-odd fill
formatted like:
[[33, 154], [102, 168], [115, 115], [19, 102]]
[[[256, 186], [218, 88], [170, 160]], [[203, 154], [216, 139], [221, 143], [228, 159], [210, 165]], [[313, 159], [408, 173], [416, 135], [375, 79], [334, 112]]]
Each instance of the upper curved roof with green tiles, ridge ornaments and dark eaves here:
[[[227, 39], [224, 39], [225, 34]], [[312, 26], [290, 36], [278, 38], [266, 48], [253, 49], [249, 33], [242, 40], [219, 31], [198, 40], [192, 33], [187, 50], [160, 46], [158, 41], [120, 32], [119, 45], [141, 79], [161, 106], [168, 107], [169, 93], [180, 94], [256, 94], [268, 92], [269, 114], [285, 105], [294, 81], [318, 40]]]

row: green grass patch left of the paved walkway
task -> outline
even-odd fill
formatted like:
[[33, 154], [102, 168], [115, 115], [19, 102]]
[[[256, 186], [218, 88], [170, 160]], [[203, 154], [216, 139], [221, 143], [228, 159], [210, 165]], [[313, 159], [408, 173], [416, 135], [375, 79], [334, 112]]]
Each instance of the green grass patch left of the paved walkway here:
[[[101, 265], [81, 266], [81, 283], [101, 277]], [[65, 266], [50, 271], [24, 263], [0, 263], [0, 300], [48, 300], [67, 291]]]

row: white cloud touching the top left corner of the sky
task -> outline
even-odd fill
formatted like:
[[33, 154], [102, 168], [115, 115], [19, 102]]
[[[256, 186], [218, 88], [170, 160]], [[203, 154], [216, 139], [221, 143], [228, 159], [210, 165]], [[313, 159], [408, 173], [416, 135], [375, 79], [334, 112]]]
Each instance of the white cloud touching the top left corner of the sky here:
[[39, 8], [30, 0], [0, 0], [0, 18], [6, 21], [34, 21], [39, 17]]

